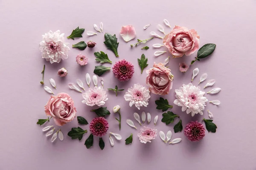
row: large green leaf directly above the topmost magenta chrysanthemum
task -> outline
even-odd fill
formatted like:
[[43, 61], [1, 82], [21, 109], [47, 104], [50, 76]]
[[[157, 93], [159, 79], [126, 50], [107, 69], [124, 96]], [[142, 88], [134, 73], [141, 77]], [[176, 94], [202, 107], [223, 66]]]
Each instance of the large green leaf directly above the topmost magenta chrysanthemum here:
[[119, 42], [117, 42], [116, 34], [113, 36], [109, 33], [105, 33], [105, 41], [104, 44], [108, 49], [113, 51], [113, 53], [116, 55], [116, 57], [119, 57], [118, 52], [117, 52], [117, 47], [119, 45]]

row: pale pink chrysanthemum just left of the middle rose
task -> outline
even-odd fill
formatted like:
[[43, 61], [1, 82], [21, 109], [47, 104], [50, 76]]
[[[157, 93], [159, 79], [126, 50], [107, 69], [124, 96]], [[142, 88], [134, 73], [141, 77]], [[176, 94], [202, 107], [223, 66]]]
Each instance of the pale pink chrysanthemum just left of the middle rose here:
[[133, 87], [128, 89], [128, 92], [124, 95], [125, 101], [130, 101], [130, 107], [135, 105], [140, 110], [140, 107], [148, 105], [150, 98], [149, 90], [139, 83], [134, 84]]

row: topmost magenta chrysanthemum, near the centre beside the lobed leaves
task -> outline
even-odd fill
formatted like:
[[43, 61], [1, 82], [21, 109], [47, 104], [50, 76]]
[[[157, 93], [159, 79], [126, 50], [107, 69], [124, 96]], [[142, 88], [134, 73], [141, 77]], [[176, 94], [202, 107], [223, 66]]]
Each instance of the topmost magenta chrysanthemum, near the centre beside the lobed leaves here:
[[128, 81], [134, 74], [134, 65], [125, 59], [119, 60], [113, 66], [113, 73], [120, 82]]

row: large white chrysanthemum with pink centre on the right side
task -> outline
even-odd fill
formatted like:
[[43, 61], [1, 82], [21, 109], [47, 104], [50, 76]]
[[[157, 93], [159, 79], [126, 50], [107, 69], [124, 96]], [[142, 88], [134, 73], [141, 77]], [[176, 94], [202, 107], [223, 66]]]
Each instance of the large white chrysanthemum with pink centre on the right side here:
[[204, 97], [205, 92], [200, 91], [200, 87], [195, 87], [192, 83], [188, 85], [183, 84], [183, 87], [175, 90], [175, 99], [174, 104], [181, 106], [182, 111], [186, 111], [187, 114], [191, 113], [192, 116], [199, 113], [203, 115], [205, 102], [208, 101]]

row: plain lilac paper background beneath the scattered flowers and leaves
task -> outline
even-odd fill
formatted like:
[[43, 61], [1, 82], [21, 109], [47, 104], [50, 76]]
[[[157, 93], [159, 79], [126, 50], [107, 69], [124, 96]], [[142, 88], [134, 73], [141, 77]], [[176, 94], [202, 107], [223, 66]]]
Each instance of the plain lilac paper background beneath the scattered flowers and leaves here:
[[[148, 1], [148, 0], [26, 0], [26, 1], [0, 1], [0, 103], [1, 103], [1, 123], [0, 123], [0, 170], [45, 170], [45, 169], [90, 169], [90, 170], [157, 170], [176, 169], [184, 170], [255, 170], [256, 147], [255, 147], [255, 5], [253, 0], [190, 0], [183, 1]], [[150, 31], [157, 31], [156, 25], [163, 24], [163, 19], [169, 20], [172, 28], [175, 25], [194, 28], [200, 35], [200, 46], [205, 43], [215, 43], [217, 48], [214, 54], [200, 62], [195, 62], [186, 74], [178, 71], [178, 63], [189, 63], [196, 54], [189, 57], [171, 59], [168, 66], [175, 75], [173, 90], [169, 95], [164, 96], [170, 103], [175, 99], [174, 89], [183, 83], [189, 83], [192, 77], [192, 70], [199, 68], [200, 73], [195, 78], [195, 83], [203, 73], [208, 74], [209, 79], [216, 79], [213, 88], [221, 87], [222, 91], [217, 95], [206, 95], [209, 100], [219, 99], [221, 105], [218, 107], [207, 104], [214, 114], [214, 122], [218, 126], [217, 133], [206, 133], [201, 142], [189, 142], [183, 133], [173, 133], [173, 137], [181, 137], [183, 140], [179, 144], [168, 145], [161, 141], [160, 137], [150, 144], [142, 144], [137, 139], [139, 130], [135, 130], [126, 125], [126, 119], [132, 119], [136, 108], [129, 108], [123, 95], [119, 93], [116, 97], [114, 93], [108, 92], [106, 105], [109, 110], [114, 105], [119, 104], [122, 109], [122, 130], [118, 130], [117, 115], [111, 113], [108, 116], [110, 131], [122, 135], [122, 141], [114, 141], [115, 146], [111, 147], [108, 135], [104, 136], [105, 149], [100, 150], [98, 138], [94, 138], [94, 146], [86, 149], [85, 139], [89, 133], [85, 134], [81, 141], [71, 140], [67, 132], [71, 127], [77, 127], [74, 120], [68, 123], [61, 130], [64, 133], [64, 141], [56, 140], [53, 144], [50, 138], [45, 137], [45, 133], [36, 125], [37, 119], [45, 117], [44, 105], [49, 99], [49, 94], [40, 85], [41, 71], [46, 64], [45, 85], [50, 86], [49, 78], [53, 78], [57, 84], [58, 92], [70, 94], [77, 108], [77, 116], [84, 116], [88, 122], [95, 116], [89, 110], [91, 107], [81, 103], [82, 96], [76, 91], [67, 87], [67, 83], [82, 79], [85, 83], [85, 74], [93, 73], [95, 65], [99, 65], [94, 60], [93, 52], [104, 51], [110, 59], [127, 59], [135, 66], [134, 77], [129, 82], [120, 83], [114, 78], [112, 72], [104, 74], [105, 88], [125, 88], [125, 91], [134, 83], [140, 82], [145, 85], [145, 71], [140, 74], [137, 58], [141, 54], [148, 57], [148, 68], [154, 61], [161, 62], [169, 54], [164, 54], [158, 58], [153, 56], [152, 44], [161, 43], [160, 39], [154, 38], [146, 45], [150, 47], [148, 51], [140, 48], [130, 48], [131, 43], [125, 43], [119, 36], [121, 26], [131, 24], [136, 28], [137, 38], [145, 39], [150, 37]], [[99, 22], [104, 23], [104, 32], [116, 34], [119, 42], [119, 58], [106, 49], [103, 44], [104, 34], [87, 37], [86, 31], [94, 31], [93, 24], [99, 26]], [[151, 26], [143, 30], [143, 26], [151, 23]], [[39, 42], [42, 40], [41, 34], [52, 30], [61, 30], [67, 37], [71, 31], [79, 26], [85, 28], [83, 38], [67, 40], [72, 44], [79, 41], [93, 40], [97, 42], [95, 48], [86, 48], [84, 51], [71, 48], [69, 58], [59, 64], [50, 64], [41, 59], [38, 50]], [[171, 29], [164, 26], [166, 32]], [[165, 48], [160, 48], [165, 50]], [[90, 62], [84, 67], [80, 67], [75, 56], [79, 53], [90, 57]], [[110, 64], [105, 64], [110, 66]], [[112, 66], [112, 65], [111, 65]], [[66, 67], [69, 74], [61, 79], [56, 72], [59, 68]], [[201, 84], [201, 87], [206, 82]], [[211, 88], [207, 88], [207, 91]], [[155, 109], [155, 99], [159, 96], [151, 95], [148, 108], [143, 108], [145, 112], [150, 112], [152, 119], [159, 115], [157, 130], [165, 133], [172, 130], [175, 123], [166, 126], [160, 120], [162, 112]], [[174, 106], [172, 111], [179, 114], [183, 120], [183, 127], [191, 116], [181, 112], [181, 108]], [[192, 120], [208, 118], [207, 111], [204, 116], [196, 115]], [[134, 121], [136, 122], [136, 121]], [[135, 123], [139, 127], [138, 123]], [[46, 125], [53, 125], [50, 121]], [[79, 125], [88, 130], [88, 125]], [[150, 127], [154, 127], [153, 122]], [[125, 146], [124, 140], [134, 133], [134, 141], [131, 145]]]

